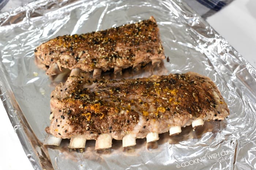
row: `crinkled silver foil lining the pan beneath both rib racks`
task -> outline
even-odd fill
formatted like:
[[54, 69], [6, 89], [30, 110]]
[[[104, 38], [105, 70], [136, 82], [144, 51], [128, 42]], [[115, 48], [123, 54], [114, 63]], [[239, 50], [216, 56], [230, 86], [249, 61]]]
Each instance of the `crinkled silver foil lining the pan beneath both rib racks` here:
[[[68, 140], [44, 147], [54, 82], [34, 64], [34, 49], [59, 35], [87, 33], [154, 16], [165, 59], [156, 71], [125, 78], [194, 71], [209, 76], [230, 116], [193, 131], [160, 135], [157, 149], [137, 139], [131, 152], [113, 141], [111, 153], [69, 152]], [[256, 169], [256, 70], [180, 0], [39, 0], [0, 14], [0, 96], [35, 169]]]

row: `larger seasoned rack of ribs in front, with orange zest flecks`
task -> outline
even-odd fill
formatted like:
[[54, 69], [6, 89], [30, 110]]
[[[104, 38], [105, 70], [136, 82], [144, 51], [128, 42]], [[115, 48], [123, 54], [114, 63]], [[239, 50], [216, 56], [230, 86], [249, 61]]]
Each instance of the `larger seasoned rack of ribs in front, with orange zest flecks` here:
[[229, 109], [210, 78], [188, 72], [150, 78], [97, 80], [78, 72], [51, 94], [49, 138], [45, 145], [60, 145], [71, 139], [69, 148], [84, 148], [86, 140], [96, 140], [95, 149], [107, 149], [112, 139], [123, 147], [147, 142], [181, 127], [202, 126], [204, 121], [223, 120]]

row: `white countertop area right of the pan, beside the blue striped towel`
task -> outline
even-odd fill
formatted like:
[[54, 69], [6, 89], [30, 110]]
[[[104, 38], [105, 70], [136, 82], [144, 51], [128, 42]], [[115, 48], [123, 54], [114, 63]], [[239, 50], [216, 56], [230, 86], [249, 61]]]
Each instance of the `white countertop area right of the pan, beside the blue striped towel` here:
[[256, 68], [256, 0], [234, 0], [207, 21]]

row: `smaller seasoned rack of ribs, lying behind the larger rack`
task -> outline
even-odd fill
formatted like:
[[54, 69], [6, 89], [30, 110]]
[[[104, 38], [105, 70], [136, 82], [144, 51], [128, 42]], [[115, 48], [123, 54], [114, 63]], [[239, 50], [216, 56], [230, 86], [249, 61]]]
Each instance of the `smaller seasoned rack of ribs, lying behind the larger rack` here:
[[157, 66], [165, 58], [159, 29], [153, 16], [149, 20], [120, 27], [65, 35], [51, 39], [34, 50], [35, 62], [48, 75], [58, 75], [63, 68], [93, 72], [140, 66], [152, 62]]

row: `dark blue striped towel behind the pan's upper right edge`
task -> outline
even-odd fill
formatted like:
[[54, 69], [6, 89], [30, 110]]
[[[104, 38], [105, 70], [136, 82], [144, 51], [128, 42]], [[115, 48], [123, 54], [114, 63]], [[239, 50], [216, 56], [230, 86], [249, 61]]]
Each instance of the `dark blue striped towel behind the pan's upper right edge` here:
[[206, 18], [221, 10], [233, 0], [184, 0], [199, 15]]

